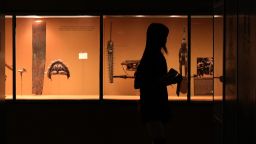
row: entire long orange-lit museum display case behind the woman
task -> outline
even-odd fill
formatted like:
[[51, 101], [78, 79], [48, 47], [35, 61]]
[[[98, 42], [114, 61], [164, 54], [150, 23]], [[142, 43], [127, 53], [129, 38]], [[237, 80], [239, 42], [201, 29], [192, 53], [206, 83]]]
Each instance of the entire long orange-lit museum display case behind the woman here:
[[26, 15], [4, 19], [5, 99], [138, 100], [134, 73], [151, 23], [169, 28], [164, 56], [168, 70], [175, 69], [183, 78], [180, 85], [168, 86], [169, 100], [222, 98], [220, 16]]

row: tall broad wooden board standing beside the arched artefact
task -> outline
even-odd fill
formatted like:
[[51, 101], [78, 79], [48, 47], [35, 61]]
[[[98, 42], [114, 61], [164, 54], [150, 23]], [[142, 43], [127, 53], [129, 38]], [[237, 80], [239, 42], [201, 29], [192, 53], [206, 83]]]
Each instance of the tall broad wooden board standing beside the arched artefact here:
[[46, 58], [46, 23], [38, 20], [32, 24], [32, 93], [41, 95], [44, 85]]

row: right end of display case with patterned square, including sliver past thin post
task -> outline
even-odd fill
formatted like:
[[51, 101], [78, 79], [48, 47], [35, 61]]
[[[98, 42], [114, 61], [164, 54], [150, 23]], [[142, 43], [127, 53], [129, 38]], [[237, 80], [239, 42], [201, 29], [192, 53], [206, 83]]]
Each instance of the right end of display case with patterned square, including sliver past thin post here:
[[191, 100], [222, 99], [223, 19], [191, 16]]

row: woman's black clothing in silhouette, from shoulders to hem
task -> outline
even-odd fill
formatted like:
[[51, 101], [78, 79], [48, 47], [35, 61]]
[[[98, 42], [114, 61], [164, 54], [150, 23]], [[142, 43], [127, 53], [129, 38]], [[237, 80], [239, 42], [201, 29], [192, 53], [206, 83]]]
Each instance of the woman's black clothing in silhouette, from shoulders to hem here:
[[164, 83], [167, 72], [166, 60], [160, 51], [142, 57], [135, 81], [139, 81], [141, 116], [145, 122], [168, 121], [168, 91]]

